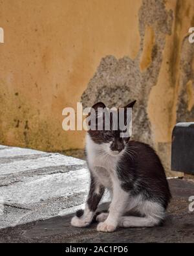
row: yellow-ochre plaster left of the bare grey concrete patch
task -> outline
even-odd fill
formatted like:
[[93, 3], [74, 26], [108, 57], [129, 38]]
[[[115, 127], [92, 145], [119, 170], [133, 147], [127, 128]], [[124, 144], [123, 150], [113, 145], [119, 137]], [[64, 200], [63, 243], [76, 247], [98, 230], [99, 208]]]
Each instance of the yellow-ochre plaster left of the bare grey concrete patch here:
[[52, 151], [83, 148], [84, 132], [62, 130], [62, 110], [76, 107], [103, 56], [136, 56], [140, 5], [0, 1], [0, 142]]

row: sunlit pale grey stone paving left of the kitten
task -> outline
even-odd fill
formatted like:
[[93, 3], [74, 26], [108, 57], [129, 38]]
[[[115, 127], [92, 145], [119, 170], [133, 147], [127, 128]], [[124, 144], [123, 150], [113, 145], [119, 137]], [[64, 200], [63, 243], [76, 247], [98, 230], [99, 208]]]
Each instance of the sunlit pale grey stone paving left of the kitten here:
[[0, 228], [84, 207], [89, 189], [85, 161], [26, 148], [0, 148]]

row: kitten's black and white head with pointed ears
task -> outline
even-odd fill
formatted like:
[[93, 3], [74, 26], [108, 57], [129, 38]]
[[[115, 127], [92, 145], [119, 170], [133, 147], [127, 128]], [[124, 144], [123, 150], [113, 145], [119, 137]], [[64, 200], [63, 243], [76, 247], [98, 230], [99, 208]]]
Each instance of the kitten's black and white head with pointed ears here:
[[[123, 119], [124, 119], [124, 128], [120, 126], [120, 109], [114, 108], [114, 111], [106, 108], [105, 104], [98, 102], [92, 106], [92, 111], [89, 114], [91, 121], [95, 120], [94, 126], [88, 130], [88, 134], [91, 137], [92, 141], [98, 145], [101, 145], [103, 150], [112, 156], [116, 156], [124, 150], [125, 145], [127, 145], [130, 135], [126, 133], [123, 136], [123, 132], [126, 132], [126, 123], [129, 121], [129, 115], [127, 115], [128, 110], [133, 108], [136, 100], [127, 104], [127, 106], [122, 107], [123, 110]], [[106, 115], [107, 113], [107, 115]], [[131, 112], [130, 112], [131, 113]], [[122, 115], [121, 115], [122, 116]], [[117, 119], [114, 119], [117, 117]], [[131, 116], [130, 116], [131, 118]], [[117, 128], [115, 128], [115, 120], [117, 122]], [[99, 129], [99, 124], [101, 129]], [[109, 126], [107, 126], [107, 124]]]

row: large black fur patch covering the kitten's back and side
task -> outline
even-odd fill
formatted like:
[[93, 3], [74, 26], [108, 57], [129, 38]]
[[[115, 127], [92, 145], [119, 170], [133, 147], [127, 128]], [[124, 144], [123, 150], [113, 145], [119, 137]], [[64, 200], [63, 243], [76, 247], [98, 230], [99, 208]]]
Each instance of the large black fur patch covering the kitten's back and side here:
[[142, 194], [145, 200], [161, 204], [165, 209], [171, 192], [164, 167], [151, 146], [129, 141], [116, 169], [124, 191], [133, 196]]

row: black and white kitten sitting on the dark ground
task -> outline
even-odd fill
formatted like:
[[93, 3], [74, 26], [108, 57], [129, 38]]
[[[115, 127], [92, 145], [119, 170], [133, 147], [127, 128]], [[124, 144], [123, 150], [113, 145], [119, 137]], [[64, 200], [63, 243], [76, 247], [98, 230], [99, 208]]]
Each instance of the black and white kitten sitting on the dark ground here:
[[[131, 102], [125, 108], [133, 108]], [[92, 108], [105, 108], [102, 102]], [[120, 137], [116, 130], [89, 130], [86, 137], [87, 164], [91, 186], [85, 210], [79, 210], [72, 226], [91, 224], [107, 188], [111, 192], [108, 213], [96, 216], [97, 231], [113, 232], [116, 227], [153, 227], [165, 217], [171, 198], [164, 167], [153, 148]], [[127, 216], [127, 212], [139, 216]]]

